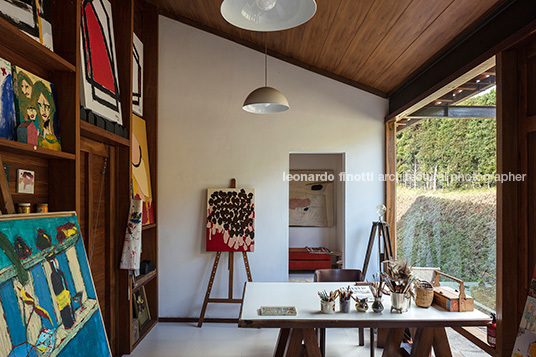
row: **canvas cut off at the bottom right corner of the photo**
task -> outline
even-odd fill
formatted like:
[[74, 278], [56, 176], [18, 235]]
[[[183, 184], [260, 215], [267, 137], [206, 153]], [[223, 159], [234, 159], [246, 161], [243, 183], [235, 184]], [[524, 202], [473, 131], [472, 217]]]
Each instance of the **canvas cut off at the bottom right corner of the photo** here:
[[536, 270], [532, 276], [531, 287], [521, 315], [517, 339], [512, 351], [512, 357], [536, 356]]

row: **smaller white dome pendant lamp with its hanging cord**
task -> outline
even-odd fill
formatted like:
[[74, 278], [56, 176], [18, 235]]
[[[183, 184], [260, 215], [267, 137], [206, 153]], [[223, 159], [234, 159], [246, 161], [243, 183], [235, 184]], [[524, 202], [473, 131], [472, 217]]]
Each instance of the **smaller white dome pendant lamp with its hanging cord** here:
[[268, 87], [268, 53], [264, 43], [264, 87], [255, 89], [244, 100], [242, 109], [254, 114], [274, 114], [289, 109], [287, 98], [275, 88]]

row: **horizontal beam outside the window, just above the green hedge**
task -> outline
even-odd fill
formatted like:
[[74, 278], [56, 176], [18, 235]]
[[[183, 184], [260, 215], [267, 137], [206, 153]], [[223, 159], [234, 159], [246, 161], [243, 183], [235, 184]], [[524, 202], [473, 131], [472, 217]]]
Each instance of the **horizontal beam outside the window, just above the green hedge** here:
[[495, 118], [495, 107], [487, 106], [426, 106], [412, 113], [408, 118]]

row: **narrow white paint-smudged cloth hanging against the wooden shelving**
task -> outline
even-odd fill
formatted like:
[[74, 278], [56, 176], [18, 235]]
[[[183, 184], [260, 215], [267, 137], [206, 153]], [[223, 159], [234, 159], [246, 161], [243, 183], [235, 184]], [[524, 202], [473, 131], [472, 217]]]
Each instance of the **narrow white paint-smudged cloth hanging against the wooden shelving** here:
[[143, 201], [130, 200], [128, 224], [121, 254], [121, 269], [137, 270], [141, 258], [141, 218], [143, 217]]

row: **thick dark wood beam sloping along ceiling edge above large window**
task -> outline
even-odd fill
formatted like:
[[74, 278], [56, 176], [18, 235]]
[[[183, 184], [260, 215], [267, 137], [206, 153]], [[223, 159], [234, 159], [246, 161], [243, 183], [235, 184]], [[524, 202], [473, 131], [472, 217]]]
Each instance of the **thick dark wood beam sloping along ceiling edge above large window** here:
[[534, 0], [510, 0], [497, 8], [435, 61], [390, 93], [386, 120], [407, 116], [426, 105], [434, 100], [430, 99], [434, 93], [534, 32], [535, 13]]

